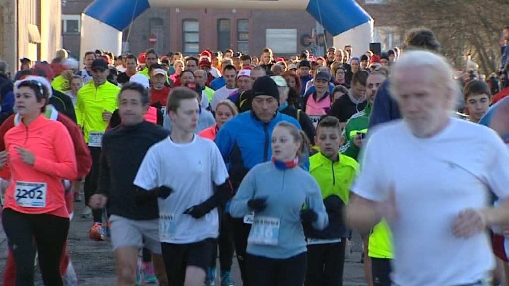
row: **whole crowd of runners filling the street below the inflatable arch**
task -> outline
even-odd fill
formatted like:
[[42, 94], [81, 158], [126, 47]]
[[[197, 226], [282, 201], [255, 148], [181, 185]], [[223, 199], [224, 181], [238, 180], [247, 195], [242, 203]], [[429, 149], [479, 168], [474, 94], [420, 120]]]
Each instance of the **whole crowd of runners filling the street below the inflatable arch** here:
[[370, 286], [507, 285], [507, 54], [457, 77], [416, 28], [381, 54], [97, 49], [80, 70], [62, 49], [12, 80], [0, 61], [3, 284], [38, 264], [77, 285], [74, 217], [117, 285], [232, 286], [236, 258], [242, 285], [340, 286], [352, 232]]

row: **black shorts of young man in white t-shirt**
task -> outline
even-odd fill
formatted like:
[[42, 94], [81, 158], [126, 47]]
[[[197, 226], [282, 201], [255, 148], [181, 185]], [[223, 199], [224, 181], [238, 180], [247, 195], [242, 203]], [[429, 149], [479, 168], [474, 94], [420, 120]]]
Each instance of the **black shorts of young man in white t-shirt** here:
[[166, 269], [169, 286], [183, 286], [188, 266], [203, 269], [204, 272], [210, 266], [210, 257], [214, 247], [217, 247], [215, 239], [190, 244], [161, 243], [161, 252]]

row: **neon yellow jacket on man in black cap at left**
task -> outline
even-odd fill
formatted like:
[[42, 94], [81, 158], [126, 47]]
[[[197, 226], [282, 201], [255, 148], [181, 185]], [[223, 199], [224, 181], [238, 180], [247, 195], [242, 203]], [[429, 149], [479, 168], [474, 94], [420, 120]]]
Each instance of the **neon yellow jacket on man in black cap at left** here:
[[108, 122], [102, 120], [102, 112], [113, 113], [118, 109], [117, 96], [120, 88], [105, 82], [99, 88], [91, 80], [76, 95], [76, 120], [83, 130], [85, 142], [89, 142], [90, 132], [104, 132]]

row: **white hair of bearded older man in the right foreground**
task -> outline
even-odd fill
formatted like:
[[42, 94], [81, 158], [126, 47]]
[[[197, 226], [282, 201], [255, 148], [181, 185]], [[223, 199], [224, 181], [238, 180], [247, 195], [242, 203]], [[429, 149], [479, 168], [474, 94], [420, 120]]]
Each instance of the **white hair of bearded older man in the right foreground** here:
[[[435, 77], [438, 87], [448, 93], [448, 110], [454, 111], [457, 103], [457, 94], [460, 93], [458, 84], [453, 78], [454, 69], [447, 60], [430, 50], [412, 49], [405, 51], [393, 65], [391, 65], [391, 75], [393, 79], [404, 75], [409, 69], [429, 68]], [[397, 96], [397, 80], [390, 84], [390, 95], [395, 99]]]

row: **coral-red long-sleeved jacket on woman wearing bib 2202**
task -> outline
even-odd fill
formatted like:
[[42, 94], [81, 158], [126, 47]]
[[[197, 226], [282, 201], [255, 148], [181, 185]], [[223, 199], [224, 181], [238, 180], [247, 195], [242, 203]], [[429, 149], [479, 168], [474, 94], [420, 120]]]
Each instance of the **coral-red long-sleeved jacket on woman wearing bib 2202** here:
[[[4, 208], [68, 218], [62, 180], [76, 178], [76, 156], [65, 126], [39, 115], [10, 129], [4, 141], [9, 163], [2, 169], [11, 174]], [[34, 165], [23, 162], [16, 147], [34, 154]]]

